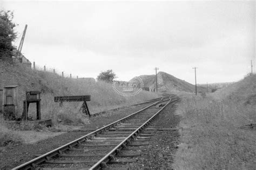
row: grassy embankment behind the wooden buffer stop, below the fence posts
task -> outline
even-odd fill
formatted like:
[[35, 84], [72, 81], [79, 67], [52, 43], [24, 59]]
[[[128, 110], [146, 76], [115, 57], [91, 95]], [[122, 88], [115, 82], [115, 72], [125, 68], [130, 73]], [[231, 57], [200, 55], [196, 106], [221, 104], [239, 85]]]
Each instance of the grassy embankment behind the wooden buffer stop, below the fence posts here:
[[[112, 84], [88, 79], [63, 78], [52, 72], [31, 70], [21, 65], [10, 65], [0, 60], [0, 88], [6, 85], [18, 85], [17, 117], [20, 117], [23, 111], [25, 91], [41, 91], [41, 117], [42, 119], [52, 119], [55, 126], [90, 124], [90, 120], [79, 112], [81, 103], [64, 103], [63, 107], [59, 107], [53, 101], [54, 96], [89, 94], [91, 95], [91, 101], [87, 104], [91, 113], [159, 97], [156, 93], [145, 91], [134, 97], [123, 97], [112, 90]], [[36, 108], [33, 104], [29, 108], [29, 116], [33, 119], [36, 117]], [[3, 137], [5, 134], [9, 135], [12, 132], [4, 128], [4, 120], [1, 119], [2, 132], [6, 132], [0, 135]]]

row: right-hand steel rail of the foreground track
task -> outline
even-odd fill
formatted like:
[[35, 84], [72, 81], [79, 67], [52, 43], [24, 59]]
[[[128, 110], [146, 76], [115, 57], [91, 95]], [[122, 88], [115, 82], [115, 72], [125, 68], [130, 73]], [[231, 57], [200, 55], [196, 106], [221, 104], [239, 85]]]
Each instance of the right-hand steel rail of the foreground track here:
[[[127, 138], [125, 138], [122, 142], [120, 142], [116, 147], [114, 147], [112, 149], [112, 151], [110, 151], [109, 153], [107, 153], [102, 159], [100, 159], [95, 165], [93, 165], [90, 170], [92, 169], [97, 169], [99, 168], [99, 166], [105, 166], [106, 162], [108, 161], [111, 161], [113, 159], [113, 155], [116, 155], [120, 152], [120, 148], [123, 148], [126, 146], [125, 143], [127, 142], [131, 142], [131, 137], [133, 137], [134, 135], [134, 138], [136, 138], [136, 136], [138, 135], [138, 133], [140, 131], [143, 130], [143, 128], [148, 124], [150, 123], [154, 118], [156, 118], [156, 116], [167, 106], [169, 105], [170, 103], [174, 102], [174, 101], [177, 101], [179, 99], [176, 99], [176, 100], [172, 100], [171, 97], [169, 99], [169, 102], [164, 106], [162, 107], [157, 113], [155, 113], [154, 115], [152, 115], [151, 118], [149, 118], [147, 121], [145, 121], [145, 123], [143, 125], [141, 125], [140, 127], [138, 127], [135, 131], [133, 131]], [[133, 140], [134, 140], [133, 138]]]

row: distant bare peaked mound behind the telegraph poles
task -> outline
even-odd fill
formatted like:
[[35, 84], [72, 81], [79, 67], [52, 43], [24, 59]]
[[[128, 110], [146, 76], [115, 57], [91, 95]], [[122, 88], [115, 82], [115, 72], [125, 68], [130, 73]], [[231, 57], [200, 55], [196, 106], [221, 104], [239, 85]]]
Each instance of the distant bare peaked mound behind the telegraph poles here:
[[[142, 75], [138, 76], [143, 80], [144, 87], [149, 87], [150, 91], [156, 89], [156, 75]], [[132, 78], [130, 82], [135, 81], [136, 77]], [[157, 73], [157, 84], [158, 91], [185, 91], [185, 92], [194, 92], [195, 86], [187, 83], [184, 80], [180, 80], [171, 74], [165, 72]], [[204, 87], [198, 87], [198, 92], [206, 91]]]

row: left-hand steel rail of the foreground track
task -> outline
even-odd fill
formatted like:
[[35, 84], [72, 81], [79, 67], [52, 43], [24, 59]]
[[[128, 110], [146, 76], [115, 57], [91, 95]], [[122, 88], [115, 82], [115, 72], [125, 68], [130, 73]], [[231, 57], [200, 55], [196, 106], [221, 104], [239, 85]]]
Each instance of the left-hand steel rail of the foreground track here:
[[32, 160], [30, 160], [30, 161], [28, 161], [28, 162], [25, 162], [24, 164], [19, 165], [19, 166], [15, 167], [15, 168], [12, 168], [12, 169], [13, 169], [13, 170], [14, 170], [14, 169], [30, 169], [30, 168], [32, 168], [32, 167], [35, 167], [36, 165], [41, 164], [42, 162], [44, 162], [44, 161], [46, 161], [46, 160], [49, 160], [51, 157], [53, 157], [53, 156], [55, 156], [55, 155], [58, 155], [58, 154], [62, 153], [63, 151], [66, 151], [66, 150], [69, 149], [70, 147], [79, 145], [80, 142], [83, 142], [83, 141], [85, 141], [86, 139], [91, 139], [94, 135], [97, 135], [97, 134], [99, 134], [100, 132], [109, 129], [109, 128], [113, 127], [114, 125], [117, 125], [118, 123], [121, 123], [121, 122], [124, 121], [124, 120], [130, 119], [130, 118], [133, 117], [134, 115], [136, 115], [136, 114], [138, 114], [138, 113], [140, 113], [140, 112], [146, 110], [147, 108], [149, 108], [149, 107], [151, 107], [151, 106], [153, 106], [153, 105], [156, 105], [156, 104], [158, 104], [158, 103], [160, 103], [160, 102], [163, 102], [163, 98], [161, 98], [159, 101], [156, 101], [155, 103], [153, 103], [153, 104], [151, 104], [151, 105], [149, 105], [149, 106], [147, 106], [147, 107], [145, 107], [145, 108], [142, 108], [141, 110], [139, 110], [139, 111], [137, 111], [137, 112], [135, 112], [135, 113], [132, 113], [132, 114], [130, 114], [130, 115], [127, 115], [126, 117], [124, 117], [124, 118], [122, 118], [122, 119], [119, 119], [119, 120], [117, 120], [117, 121], [114, 121], [113, 123], [111, 123], [111, 124], [109, 124], [109, 125], [106, 125], [106, 126], [104, 126], [104, 127], [102, 127], [102, 128], [99, 128], [99, 129], [96, 130], [96, 131], [93, 131], [93, 132], [91, 132], [91, 133], [88, 133], [88, 134], [84, 135], [83, 137], [80, 137], [80, 138], [78, 138], [78, 139], [76, 139], [76, 140], [73, 140], [73, 141], [69, 142], [68, 144], [65, 144], [65, 145], [63, 145], [63, 146], [60, 146], [60, 147], [58, 147], [58, 148], [56, 148], [56, 149], [53, 149], [52, 151], [50, 151], [50, 152], [48, 152], [48, 153], [45, 153], [45, 154], [43, 154], [43, 155], [41, 155], [41, 156], [39, 156], [39, 157], [37, 157], [37, 158], [35, 158], [35, 159], [32, 159]]

